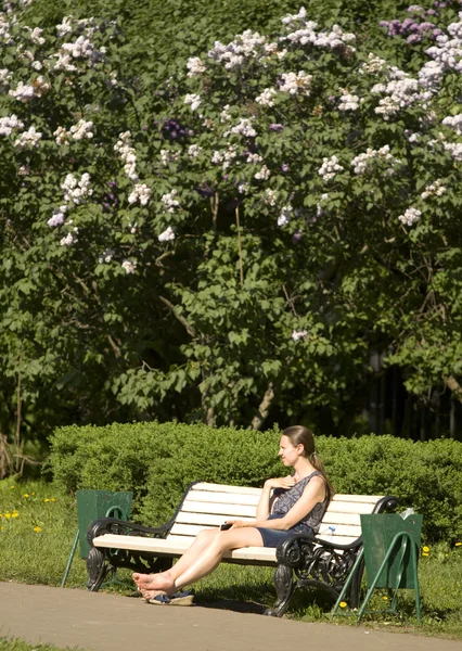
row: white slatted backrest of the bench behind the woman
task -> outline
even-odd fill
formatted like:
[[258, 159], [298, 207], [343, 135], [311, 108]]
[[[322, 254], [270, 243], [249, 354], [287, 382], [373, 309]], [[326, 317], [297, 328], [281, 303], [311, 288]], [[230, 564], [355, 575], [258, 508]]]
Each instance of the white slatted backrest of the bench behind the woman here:
[[[193, 538], [201, 529], [219, 526], [226, 520], [255, 520], [261, 488], [194, 484], [185, 496], [167, 536], [168, 540]], [[322, 520], [319, 537], [349, 545], [361, 535], [361, 513], [372, 513], [383, 496], [337, 494]], [[335, 527], [334, 532], [329, 527]]]

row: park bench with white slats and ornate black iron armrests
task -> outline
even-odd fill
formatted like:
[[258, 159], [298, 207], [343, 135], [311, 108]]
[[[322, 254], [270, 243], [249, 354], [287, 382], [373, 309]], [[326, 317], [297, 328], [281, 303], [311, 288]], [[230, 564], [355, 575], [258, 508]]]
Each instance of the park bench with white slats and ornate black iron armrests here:
[[[117, 567], [142, 573], [167, 570], [201, 529], [217, 527], [226, 520], [255, 520], [260, 494], [260, 488], [196, 482], [189, 486], [175, 515], [164, 526], [147, 527], [113, 518], [97, 520], [88, 529], [88, 589], [97, 591], [107, 573]], [[397, 503], [392, 496], [337, 494], [317, 536], [296, 534], [277, 549], [235, 549], [223, 561], [275, 566], [278, 598], [266, 614], [281, 616], [296, 588], [320, 586], [336, 598], [362, 546], [360, 514], [381, 513]], [[358, 605], [361, 578], [362, 567], [351, 583], [351, 608]]]

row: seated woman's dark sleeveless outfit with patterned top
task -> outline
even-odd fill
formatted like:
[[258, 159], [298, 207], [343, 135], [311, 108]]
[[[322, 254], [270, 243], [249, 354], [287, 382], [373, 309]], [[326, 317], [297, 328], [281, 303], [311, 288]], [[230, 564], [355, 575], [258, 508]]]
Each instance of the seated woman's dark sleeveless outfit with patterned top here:
[[[268, 520], [279, 520], [284, 518], [292, 507], [300, 499], [303, 492], [307, 484], [312, 477], [322, 477], [322, 473], [316, 470], [307, 477], [304, 477], [295, 484], [292, 488], [275, 488], [273, 495], [277, 496], [277, 500], [273, 503], [271, 515]], [[257, 526], [256, 528], [260, 532], [264, 547], [278, 547], [282, 540], [290, 538], [293, 534], [310, 534], [313, 535], [319, 531], [319, 525], [329, 506], [330, 496], [328, 488], [325, 490], [325, 497], [322, 502], [318, 502], [311, 509], [311, 511], [305, 515], [297, 524], [288, 529], [272, 529], [269, 527]]]

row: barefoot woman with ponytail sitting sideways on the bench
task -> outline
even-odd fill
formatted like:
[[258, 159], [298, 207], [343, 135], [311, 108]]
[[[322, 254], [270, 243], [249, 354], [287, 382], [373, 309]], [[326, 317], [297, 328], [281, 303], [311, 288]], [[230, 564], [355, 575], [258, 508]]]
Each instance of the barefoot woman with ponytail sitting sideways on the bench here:
[[287, 427], [282, 433], [278, 456], [294, 472], [265, 482], [256, 521], [228, 521], [229, 528], [204, 529], [170, 570], [133, 574], [146, 601], [168, 603], [179, 589], [213, 572], [227, 551], [278, 547], [291, 534], [313, 535], [318, 531], [333, 492], [315, 451], [312, 433], [301, 425]]

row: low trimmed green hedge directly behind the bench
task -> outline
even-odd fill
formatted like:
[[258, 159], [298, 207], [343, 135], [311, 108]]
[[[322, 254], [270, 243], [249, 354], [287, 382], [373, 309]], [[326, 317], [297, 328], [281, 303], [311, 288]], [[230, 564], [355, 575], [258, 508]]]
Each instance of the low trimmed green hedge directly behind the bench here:
[[[283, 474], [279, 432], [248, 432], [177, 423], [61, 427], [51, 438], [49, 468], [67, 492], [134, 492], [133, 518], [162, 524], [189, 483], [260, 486]], [[396, 495], [400, 509], [424, 515], [426, 541], [462, 540], [462, 444], [412, 443], [393, 436], [319, 436], [318, 450], [338, 493]]]

